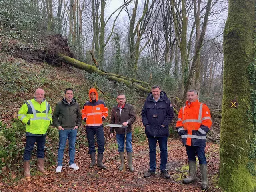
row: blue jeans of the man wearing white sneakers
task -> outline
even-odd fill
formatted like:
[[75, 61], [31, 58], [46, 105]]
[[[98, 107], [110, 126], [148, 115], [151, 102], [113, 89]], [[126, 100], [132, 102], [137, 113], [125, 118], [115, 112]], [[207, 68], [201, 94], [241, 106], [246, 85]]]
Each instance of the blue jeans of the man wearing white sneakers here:
[[59, 149], [58, 149], [58, 166], [63, 165], [63, 154], [66, 147], [66, 142], [68, 138], [69, 145], [69, 164], [72, 165], [75, 161], [76, 152], [76, 134], [77, 129], [73, 130], [59, 130]]

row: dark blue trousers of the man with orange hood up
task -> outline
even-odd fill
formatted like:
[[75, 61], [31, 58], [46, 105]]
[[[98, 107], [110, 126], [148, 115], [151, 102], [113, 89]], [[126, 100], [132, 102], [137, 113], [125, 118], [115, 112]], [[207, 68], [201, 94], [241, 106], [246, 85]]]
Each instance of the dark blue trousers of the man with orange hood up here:
[[103, 154], [105, 151], [105, 137], [104, 137], [104, 130], [103, 126], [98, 128], [87, 128], [86, 127], [86, 134], [89, 143], [89, 154], [95, 153], [95, 138], [96, 135], [97, 143], [98, 143], [98, 154]]

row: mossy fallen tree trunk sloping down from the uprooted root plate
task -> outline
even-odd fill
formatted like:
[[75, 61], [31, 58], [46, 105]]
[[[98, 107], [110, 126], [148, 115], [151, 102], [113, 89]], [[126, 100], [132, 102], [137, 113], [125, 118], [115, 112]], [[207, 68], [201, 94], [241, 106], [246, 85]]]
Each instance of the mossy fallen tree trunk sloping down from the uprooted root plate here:
[[[133, 87], [136, 90], [138, 90], [138, 92], [140, 93], [149, 93], [150, 92], [150, 85], [146, 82], [142, 82], [136, 79], [132, 79], [132, 78], [127, 78], [127, 77], [123, 77], [123, 76], [119, 76], [116, 74], [110, 74], [110, 73], [106, 73], [103, 72], [102, 70], [99, 70], [96, 66], [92, 66], [92, 65], [88, 65], [86, 63], [80, 62], [74, 58], [68, 57], [64, 54], [58, 53], [57, 54], [59, 59], [76, 67], [76, 68], [80, 68], [82, 70], [86, 70], [89, 73], [97, 73], [100, 74], [102, 76], [106, 76], [106, 78], [112, 82], [119, 82], [119, 83], [124, 83], [126, 86], [129, 87]], [[141, 85], [138, 85], [136, 83], [140, 83], [140, 84], [145, 84], [148, 87], [144, 88]]]

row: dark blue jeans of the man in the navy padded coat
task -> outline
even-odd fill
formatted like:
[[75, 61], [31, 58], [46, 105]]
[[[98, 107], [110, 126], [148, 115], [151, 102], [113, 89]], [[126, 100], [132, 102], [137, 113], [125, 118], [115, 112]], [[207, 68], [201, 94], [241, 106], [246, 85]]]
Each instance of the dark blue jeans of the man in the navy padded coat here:
[[150, 170], [156, 170], [156, 142], [158, 141], [160, 148], [160, 170], [166, 169], [167, 164], [167, 139], [168, 137], [148, 137], [148, 146], [149, 146], [149, 167]]

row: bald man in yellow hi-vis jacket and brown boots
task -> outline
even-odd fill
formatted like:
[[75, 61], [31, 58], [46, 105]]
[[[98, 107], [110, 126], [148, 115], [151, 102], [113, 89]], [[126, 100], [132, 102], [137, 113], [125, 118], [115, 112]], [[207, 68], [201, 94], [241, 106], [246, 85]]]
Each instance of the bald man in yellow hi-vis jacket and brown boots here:
[[26, 146], [24, 150], [24, 176], [30, 179], [29, 161], [36, 142], [38, 159], [37, 170], [47, 174], [44, 170], [44, 144], [46, 132], [52, 123], [52, 108], [44, 99], [44, 90], [37, 89], [35, 97], [25, 101], [18, 112], [18, 119], [26, 124]]

